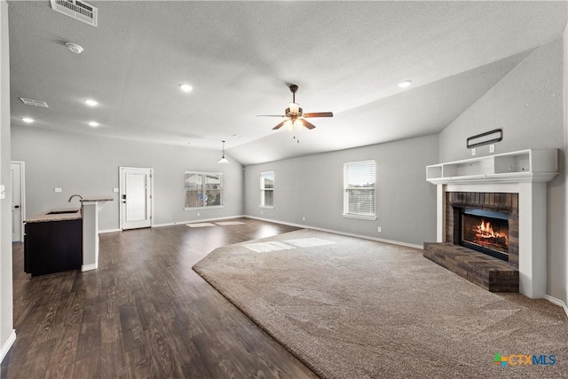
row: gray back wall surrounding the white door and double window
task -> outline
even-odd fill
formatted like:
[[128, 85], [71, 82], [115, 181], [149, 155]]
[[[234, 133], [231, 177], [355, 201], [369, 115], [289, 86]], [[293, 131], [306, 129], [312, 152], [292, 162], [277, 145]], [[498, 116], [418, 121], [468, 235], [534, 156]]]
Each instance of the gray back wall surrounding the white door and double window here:
[[[12, 160], [26, 162], [27, 216], [78, 206], [77, 199], [67, 202], [73, 193], [110, 195], [114, 201], [99, 213], [101, 231], [119, 227], [113, 188], [119, 186], [120, 166], [154, 169], [154, 225], [242, 215], [242, 166], [230, 156], [230, 164], [218, 164], [219, 158], [220, 141], [215, 151], [12, 126]], [[225, 207], [184, 210], [185, 170], [222, 172]]]

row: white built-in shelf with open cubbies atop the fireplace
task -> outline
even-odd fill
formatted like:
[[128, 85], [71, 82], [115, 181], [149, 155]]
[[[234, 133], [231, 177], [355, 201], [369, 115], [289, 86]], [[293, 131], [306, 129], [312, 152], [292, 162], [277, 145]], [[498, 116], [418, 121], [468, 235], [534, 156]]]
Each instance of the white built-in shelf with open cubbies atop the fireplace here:
[[558, 149], [529, 149], [495, 154], [426, 167], [426, 180], [432, 184], [495, 182], [533, 182], [558, 174]]

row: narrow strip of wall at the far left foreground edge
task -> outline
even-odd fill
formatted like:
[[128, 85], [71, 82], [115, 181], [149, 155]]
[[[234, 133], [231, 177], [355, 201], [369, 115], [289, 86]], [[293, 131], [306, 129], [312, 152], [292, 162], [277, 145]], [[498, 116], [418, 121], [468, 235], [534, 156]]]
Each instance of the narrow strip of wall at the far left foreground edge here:
[[12, 323], [12, 193], [10, 188], [10, 54], [8, 5], [0, 1], [0, 183], [6, 198], [0, 201], [0, 350], [7, 348]]

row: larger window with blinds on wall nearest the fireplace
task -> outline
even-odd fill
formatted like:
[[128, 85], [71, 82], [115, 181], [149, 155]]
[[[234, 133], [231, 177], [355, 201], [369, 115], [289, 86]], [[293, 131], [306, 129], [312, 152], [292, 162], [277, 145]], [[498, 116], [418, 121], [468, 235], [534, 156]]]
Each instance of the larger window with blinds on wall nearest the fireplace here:
[[343, 164], [343, 216], [375, 220], [375, 161]]

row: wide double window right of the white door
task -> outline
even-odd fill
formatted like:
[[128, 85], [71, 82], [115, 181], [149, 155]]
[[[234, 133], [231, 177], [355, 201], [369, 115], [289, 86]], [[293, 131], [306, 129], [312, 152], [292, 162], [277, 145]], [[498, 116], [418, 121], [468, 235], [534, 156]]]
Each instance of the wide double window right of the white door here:
[[185, 171], [185, 209], [223, 206], [223, 174]]

